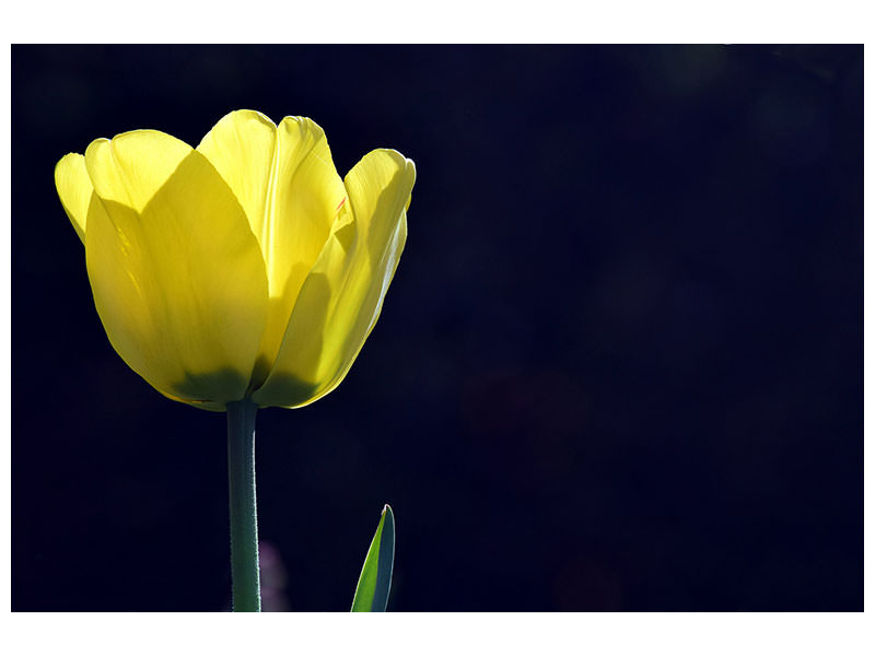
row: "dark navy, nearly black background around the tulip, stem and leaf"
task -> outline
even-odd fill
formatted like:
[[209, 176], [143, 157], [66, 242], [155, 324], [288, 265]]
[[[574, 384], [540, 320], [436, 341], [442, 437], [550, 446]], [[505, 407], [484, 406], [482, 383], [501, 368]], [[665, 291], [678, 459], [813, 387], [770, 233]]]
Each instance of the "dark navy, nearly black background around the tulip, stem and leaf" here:
[[224, 415], [105, 337], [52, 168], [314, 118], [416, 161], [346, 382], [258, 417], [265, 604], [862, 610], [862, 47], [12, 48], [12, 608], [224, 610]]

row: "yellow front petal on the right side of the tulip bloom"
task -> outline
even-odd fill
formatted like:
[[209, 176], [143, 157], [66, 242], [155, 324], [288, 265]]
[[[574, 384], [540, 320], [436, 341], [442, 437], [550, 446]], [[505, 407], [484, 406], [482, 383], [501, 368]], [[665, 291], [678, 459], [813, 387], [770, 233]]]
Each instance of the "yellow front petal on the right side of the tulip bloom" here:
[[392, 150], [369, 153], [347, 175], [347, 214], [301, 288], [273, 370], [253, 395], [259, 406], [304, 406], [343, 379], [398, 265], [415, 180], [413, 163]]

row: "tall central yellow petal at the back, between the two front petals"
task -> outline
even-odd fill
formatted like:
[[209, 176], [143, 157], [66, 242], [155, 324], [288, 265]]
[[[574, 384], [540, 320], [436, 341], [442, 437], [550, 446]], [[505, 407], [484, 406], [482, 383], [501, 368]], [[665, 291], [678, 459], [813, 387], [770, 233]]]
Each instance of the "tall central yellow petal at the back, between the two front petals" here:
[[308, 118], [285, 117], [277, 127], [257, 112], [232, 112], [198, 150], [236, 195], [261, 247], [270, 309], [255, 377], [264, 379], [346, 190], [325, 132]]

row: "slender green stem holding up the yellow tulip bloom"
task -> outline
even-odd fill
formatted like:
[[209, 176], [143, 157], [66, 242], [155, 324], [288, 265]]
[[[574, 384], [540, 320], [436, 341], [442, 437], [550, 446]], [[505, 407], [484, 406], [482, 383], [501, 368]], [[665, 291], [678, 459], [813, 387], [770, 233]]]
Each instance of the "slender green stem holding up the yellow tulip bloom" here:
[[259, 612], [258, 518], [255, 506], [255, 412], [250, 399], [228, 403], [231, 587], [235, 612]]

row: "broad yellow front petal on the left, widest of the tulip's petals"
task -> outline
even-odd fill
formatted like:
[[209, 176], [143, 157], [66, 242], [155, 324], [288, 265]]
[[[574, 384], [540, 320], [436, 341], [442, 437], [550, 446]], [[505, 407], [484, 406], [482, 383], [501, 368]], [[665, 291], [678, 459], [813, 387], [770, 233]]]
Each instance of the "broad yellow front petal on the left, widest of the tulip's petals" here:
[[231, 189], [203, 155], [160, 132], [92, 143], [85, 163], [96, 192], [85, 258], [115, 350], [172, 398], [208, 409], [243, 398], [267, 277]]

